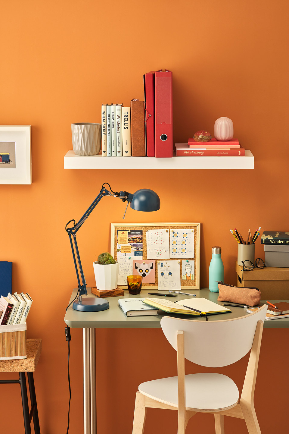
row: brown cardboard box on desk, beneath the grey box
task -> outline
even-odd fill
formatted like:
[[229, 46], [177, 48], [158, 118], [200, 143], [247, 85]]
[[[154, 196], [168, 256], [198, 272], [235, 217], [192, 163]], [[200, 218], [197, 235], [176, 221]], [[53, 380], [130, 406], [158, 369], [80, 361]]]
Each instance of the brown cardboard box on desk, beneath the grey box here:
[[261, 292], [261, 300], [289, 299], [289, 268], [265, 267], [243, 271], [237, 264], [237, 286], [255, 286]]

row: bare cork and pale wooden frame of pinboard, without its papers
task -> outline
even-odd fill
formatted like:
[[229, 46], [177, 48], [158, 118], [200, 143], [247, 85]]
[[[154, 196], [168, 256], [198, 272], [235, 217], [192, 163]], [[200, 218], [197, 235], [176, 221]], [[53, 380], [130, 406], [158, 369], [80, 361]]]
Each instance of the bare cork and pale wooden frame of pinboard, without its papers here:
[[[111, 223], [110, 233], [110, 254], [117, 260], [117, 231], [118, 230], [142, 230], [143, 231], [143, 260], [151, 259], [146, 257], [146, 232], [149, 229], [166, 230], [171, 237], [171, 230], [188, 229], [194, 230], [194, 257], [187, 258], [195, 261], [194, 279], [182, 280], [182, 266], [180, 266], [181, 289], [200, 289], [200, 223]], [[169, 260], [179, 261], [182, 265], [182, 258], [170, 258]], [[156, 260], [157, 263], [157, 260]], [[155, 267], [155, 283], [143, 283], [143, 289], [158, 289], [158, 273]], [[118, 285], [120, 288], [127, 289], [127, 286]]]

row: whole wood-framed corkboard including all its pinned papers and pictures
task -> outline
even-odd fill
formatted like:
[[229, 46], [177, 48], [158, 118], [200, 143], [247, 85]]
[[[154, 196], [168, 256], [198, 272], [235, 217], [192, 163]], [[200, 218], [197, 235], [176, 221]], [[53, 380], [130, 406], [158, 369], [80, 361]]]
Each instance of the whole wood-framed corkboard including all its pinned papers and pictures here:
[[[200, 289], [200, 223], [111, 223], [118, 284], [143, 276], [143, 289]], [[120, 286], [121, 287], [121, 286]]]

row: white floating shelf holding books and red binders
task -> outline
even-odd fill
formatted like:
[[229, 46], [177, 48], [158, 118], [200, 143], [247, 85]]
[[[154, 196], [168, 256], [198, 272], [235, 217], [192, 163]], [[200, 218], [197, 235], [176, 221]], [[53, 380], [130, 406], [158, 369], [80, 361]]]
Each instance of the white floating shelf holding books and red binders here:
[[84, 157], [68, 151], [65, 169], [253, 169], [254, 156], [245, 151], [244, 157]]

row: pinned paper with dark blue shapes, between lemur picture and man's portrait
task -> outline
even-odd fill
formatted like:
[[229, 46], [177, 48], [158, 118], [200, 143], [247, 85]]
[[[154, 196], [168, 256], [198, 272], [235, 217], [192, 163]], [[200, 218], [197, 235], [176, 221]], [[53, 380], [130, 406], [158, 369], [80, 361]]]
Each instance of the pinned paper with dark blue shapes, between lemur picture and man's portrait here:
[[158, 261], [158, 289], [181, 290], [181, 264], [179, 261]]

